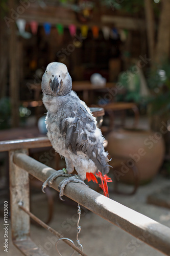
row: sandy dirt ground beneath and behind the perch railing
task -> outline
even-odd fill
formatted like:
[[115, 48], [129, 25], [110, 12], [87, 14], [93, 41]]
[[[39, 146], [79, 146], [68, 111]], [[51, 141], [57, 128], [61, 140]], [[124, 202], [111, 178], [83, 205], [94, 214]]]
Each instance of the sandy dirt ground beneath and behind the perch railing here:
[[[134, 196], [120, 196], [110, 193], [110, 198], [122, 203], [141, 214], [144, 214], [166, 226], [170, 227], [170, 210], [146, 203], [146, 198], [149, 194], [157, 189], [169, 185], [169, 180], [157, 176], [151, 183], [140, 186]], [[121, 185], [122, 190], [131, 189], [130, 186]], [[55, 209], [54, 217], [49, 224], [58, 232], [61, 232], [64, 237], [73, 240], [76, 243], [77, 234], [77, 204], [70, 200], [64, 202], [58, 200], [58, 193], [55, 193]], [[31, 200], [32, 212], [40, 219], [44, 220], [47, 214], [46, 196], [43, 193], [38, 193]], [[3, 249], [4, 242], [4, 220], [1, 222], [1, 255], [5, 256], [21, 256], [22, 253], [12, 244], [11, 241], [11, 226], [9, 222], [9, 246], [8, 252]], [[156, 251], [118, 228], [94, 215], [92, 212], [82, 209], [82, 217], [80, 220], [81, 233], [80, 241], [83, 245], [83, 251], [90, 256], [163, 256], [164, 254]], [[47, 230], [31, 225], [31, 238], [41, 249], [49, 256], [59, 255], [55, 248], [57, 238]], [[62, 256], [71, 254], [70, 248], [62, 241], [59, 244]], [[78, 255], [75, 252], [74, 255]], [[31, 255], [30, 255], [31, 256]], [[34, 255], [32, 255], [34, 256]]]

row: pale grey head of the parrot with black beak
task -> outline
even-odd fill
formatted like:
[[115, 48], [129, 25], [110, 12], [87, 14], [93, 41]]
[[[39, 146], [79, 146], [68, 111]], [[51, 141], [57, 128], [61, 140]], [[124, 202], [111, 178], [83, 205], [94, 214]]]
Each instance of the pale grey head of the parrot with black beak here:
[[72, 87], [67, 67], [60, 62], [48, 64], [41, 82], [42, 92], [51, 96], [65, 96]]

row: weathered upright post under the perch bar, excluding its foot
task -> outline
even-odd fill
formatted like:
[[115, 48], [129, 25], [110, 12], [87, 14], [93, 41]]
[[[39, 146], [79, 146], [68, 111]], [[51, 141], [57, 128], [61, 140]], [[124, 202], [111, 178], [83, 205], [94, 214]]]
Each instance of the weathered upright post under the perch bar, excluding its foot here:
[[[28, 154], [28, 150], [21, 150]], [[30, 210], [29, 174], [13, 163], [14, 151], [9, 152], [10, 209], [12, 240], [27, 239], [30, 236], [30, 217], [18, 208], [18, 203]]]

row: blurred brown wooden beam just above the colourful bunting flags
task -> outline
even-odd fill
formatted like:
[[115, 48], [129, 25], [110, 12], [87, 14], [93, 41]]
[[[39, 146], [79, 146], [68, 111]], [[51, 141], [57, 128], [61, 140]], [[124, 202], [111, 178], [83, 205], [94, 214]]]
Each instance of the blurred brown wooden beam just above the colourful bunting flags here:
[[[99, 11], [95, 11], [93, 19], [88, 22], [88, 27], [98, 26], [102, 28], [104, 25], [112, 27], [113, 24], [116, 28], [138, 30], [145, 29], [145, 21], [143, 19], [123, 17], [115, 15], [106, 15], [98, 7]], [[20, 14], [20, 18], [26, 19], [28, 22], [36, 20], [38, 24], [43, 25], [44, 22], [49, 22], [52, 25], [58, 23], [63, 26], [69, 26], [75, 24], [77, 27], [81, 27], [82, 23], [76, 19], [76, 14], [73, 10], [61, 7], [61, 6], [46, 6], [41, 8], [37, 3], [30, 4], [30, 7]]]

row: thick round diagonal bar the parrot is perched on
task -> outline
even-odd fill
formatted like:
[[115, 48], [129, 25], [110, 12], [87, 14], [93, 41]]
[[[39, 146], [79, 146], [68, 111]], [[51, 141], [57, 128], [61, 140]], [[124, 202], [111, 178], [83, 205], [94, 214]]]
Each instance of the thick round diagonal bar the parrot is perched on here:
[[[25, 154], [14, 154], [13, 161], [42, 182], [56, 172], [53, 168]], [[53, 182], [52, 187], [59, 191], [58, 185], [63, 179], [63, 177], [57, 178]], [[67, 184], [64, 189], [64, 195], [80, 203], [94, 212], [94, 214], [132, 234], [132, 236], [144, 243], [166, 255], [170, 255], [170, 228], [79, 183]]]

